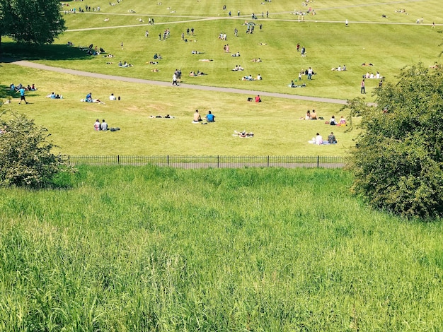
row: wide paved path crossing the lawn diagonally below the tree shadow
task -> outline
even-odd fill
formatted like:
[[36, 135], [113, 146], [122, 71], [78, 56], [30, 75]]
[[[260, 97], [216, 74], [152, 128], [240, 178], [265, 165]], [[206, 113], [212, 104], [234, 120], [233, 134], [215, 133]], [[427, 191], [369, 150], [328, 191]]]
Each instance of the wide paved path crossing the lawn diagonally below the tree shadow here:
[[[17, 64], [19, 66], [35, 68], [35, 69], [40, 69], [40, 70], [44, 70], [44, 71], [55, 71], [57, 73], [67, 73], [67, 74], [76, 75], [76, 76], [100, 78], [103, 80], [161, 85], [161, 86], [168, 86], [171, 88], [176, 88], [176, 87], [171, 86], [171, 82], [151, 81], [151, 80], [143, 80], [141, 78], [105, 75], [103, 73], [91, 73], [88, 71], [77, 71], [74, 69], [65, 69], [65, 68], [47, 66], [45, 64], [36, 64], [35, 62], [31, 62], [31, 61], [23, 61], [23, 60], [20, 60], [20, 61], [4, 60], [4, 61], [8, 62], [10, 64]], [[341, 104], [341, 105], [345, 105], [347, 102], [347, 100], [342, 100], [342, 99], [309, 97], [309, 96], [303, 96], [303, 95], [288, 95], [286, 93], [268, 93], [265, 91], [243, 90], [243, 89], [234, 89], [234, 88], [219, 88], [216, 86], [193, 85], [193, 84], [180, 84], [178, 86], [178, 88], [179, 89], [184, 88], [184, 89], [193, 89], [193, 90], [217, 91], [217, 92], [222, 92], [222, 93], [238, 93], [241, 95], [260, 95], [262, 97], [265, 96], [265, 97], [277, 97], [277, 98], [286, 98], [286, 99], [306, 100], [306, 101], [310, 101], [310, 102], [328, 102], [331, 104]]]

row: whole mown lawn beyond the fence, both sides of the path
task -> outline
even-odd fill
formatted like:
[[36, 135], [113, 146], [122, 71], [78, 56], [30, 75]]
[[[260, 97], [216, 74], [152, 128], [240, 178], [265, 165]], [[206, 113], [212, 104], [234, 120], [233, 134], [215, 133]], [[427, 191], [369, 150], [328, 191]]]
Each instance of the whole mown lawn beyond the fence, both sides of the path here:
[[[81, 1], [65, 3], [69, 4], [65, 9], [84, 6]], [[222, 10], [223, 4], [227, 6], [226, 11]], [[352, 146], [355, 132], [334, 128], [338, 146], [311, 146], [307, 141], [316, 132], [326, 137], [331, 129], [324, 121], [299, 121], [307, 109], [316, 109], [328, 120], [333, 114], [340, 115], [340, 105], [275, 97], [266, 97], [263, 103], [255, 105], [246, 102], [246, 98], [266, 91], [346, 100], [360, 96], [359, 83], [367, 71], [379, 71], [386, 81], [393, 81], [403, 66], [418, 61], [434, 64], [441, 52], [439, 32], [443, 10], [437, 0], [401, 4], [381, 0], [371, 4], [360, 0], [320, 1], [311, 4], [316, 15], [303, 16], [302, 22], [294, 15], [294, 9], [306, 11], [308, 7], [297, 4], [299, 8], [294, 8], [289, 1], [265, 1], [263, 5], [252, 0], [242, 1], [241, 5], [234, 1], [165, 1], [159, 5], [158, 2], [144, 4], [125, 0], [110, 6], [109, 1], [101, 0], [93, 6], [100, 6], [100, 12], [65, 15], [68, 30], [54, 45], [21, 49], [6, 40], [4, 52], [51, 66], [159, 81], [171, 81], [173, 71], [180, 68], [183, 83], [255, 92], [238, 95], [130, 84], [1, 64], [0, 84], [5, 89], [11, 82], [35, 83], [39, 87], [28, 96], [32, 105], [16, 105], [18, 99], [14, 98], [8, 108], [25, 111], [38, 124], [46, 126], [60, 151], [71, 155], [345, 155]], [[408, 15], [395, 12], [401, 8], [405, 8]], [[130, 9], [136, 13], [129, 13]], [[267, 18], [266, 11], [269, 12]], [[242, 24], [251, 21], [252, 12], [258, 16], [255, 23], [263, 24], [263, 29], [257, 25], [251, 35], [246, 34]], [[382, 18], [383, 13], [388, 18]], [[415, 20], [424, 13], [423, 23], [416, 24]], [[154, 25], [147, 25], [149, 17], [155, 18]], [[139, 18], [144, 22], [139, 22]], [[347, 28], [345, 19], [350, 21]], [[430, 25], [432, 21], [437, 24], [436, 28]], [[159, 41], [159, 33], [166, 28], [171, 30], [171, 37]], [[187, 28], [195, 28], [195, 36], [186, 35]], [[234, 37], [234, 28], [238, 28], [238, 37]], [[148, 38], [144, 37], [146, 30], [149, 30]], [[181, 40], [181, 32], [185, 32], [189, 42]], [[217, 38], [221, 32], [226, 32], [228, 40]], [[75, 47], [67, 47], [68, 41], [74, 42]], [[121, 42], [124, 42], [123, 49]], [[306, 58], [297, 53], [297, 42], [306, 47]], [[241, 57], [224, 53], [226, 43], [231, 52], [238, 51]], [[78, 48], [90, 44], [103, 47], [115, 57], [86, 56], [86, 52]], [[192, 50], [204, 54], [191, 54]], [[146, 64], [153, 60], [154, 53], [162, 54], [163, 59], [156, 66]], [[251, 62], [258, 57], [263, 62]], [[106, 64], [109, 61], [113, 64]], [[128, 61], [134, 67], [119, 68], [118, 61]], [[363, 62], [374, 66], [361, 66]], [[236, 64], [245, 71], [231, 71]], [[330, 70], [343, 64], [347, 71]], [[301, 69], [309, 66], [316, 75], [309, 82], [303, 77], [306, 88], [287, 87], [292, 79], [297, 79]], [[154, 68], [159, 72], [152, 72]], [[208, 75], [188, 76], [189, 71], [197, 70]], [[260, 73], [264, 79], [241, 81], [241, 76], [249, 73], [253, 76]], [[372, 92], [378, 83], [379, 80], [367, 80], [364, 97], [368, 102], [374, 100]], [[45, 99], [52, 91], [62, 94], [64, 100]], [[105, 100], [106, 105], [79, 102], [88, 92]], [[108, 102], [110, 93], [120, 95], [122, 101]], [[209, 126], [190, 124], [195, 109], [203, 114], [211, 109], [217, 122]], [[150, 118], [166, 114], [176, 119]], [[122, 130], [112, 134], [94, 133], [91, 129], [97, 118], [104, 118]], [[243, 129], [253, 131], [255, 137], [239, 140], [232, 136], [234, 130]]]

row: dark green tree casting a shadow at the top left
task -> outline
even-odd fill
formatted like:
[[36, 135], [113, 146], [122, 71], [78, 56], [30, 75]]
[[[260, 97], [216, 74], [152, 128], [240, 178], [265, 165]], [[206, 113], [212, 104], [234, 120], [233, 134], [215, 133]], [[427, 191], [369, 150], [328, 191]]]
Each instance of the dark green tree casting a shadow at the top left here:
[[60, 10], [58, 0], [0, 0], [0, 47], [1, 36], [21, 43], [51, 44], [66, 30]]

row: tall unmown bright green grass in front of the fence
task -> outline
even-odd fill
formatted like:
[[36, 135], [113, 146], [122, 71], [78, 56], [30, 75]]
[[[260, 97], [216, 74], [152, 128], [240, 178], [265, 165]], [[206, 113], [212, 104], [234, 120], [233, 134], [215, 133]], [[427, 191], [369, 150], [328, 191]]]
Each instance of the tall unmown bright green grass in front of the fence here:
[[2, 331], [440, 331], [441, 223], [343, 170], [82, 167], [0, 189]]

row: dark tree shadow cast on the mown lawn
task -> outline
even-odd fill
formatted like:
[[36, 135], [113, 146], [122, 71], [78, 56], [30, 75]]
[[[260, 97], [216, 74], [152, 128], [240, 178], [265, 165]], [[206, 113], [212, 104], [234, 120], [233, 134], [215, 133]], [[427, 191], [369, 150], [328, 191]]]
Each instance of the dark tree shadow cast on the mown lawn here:
[[0, 62], [18, 60], [82, 60], [90, 59], [85, 51], [67, 45], [25, 45], [16, 42], [1, 43]]

